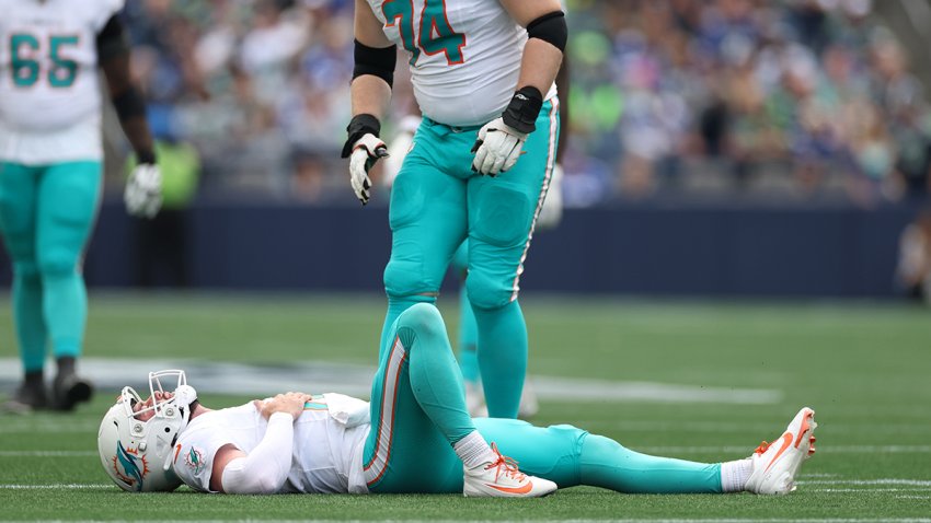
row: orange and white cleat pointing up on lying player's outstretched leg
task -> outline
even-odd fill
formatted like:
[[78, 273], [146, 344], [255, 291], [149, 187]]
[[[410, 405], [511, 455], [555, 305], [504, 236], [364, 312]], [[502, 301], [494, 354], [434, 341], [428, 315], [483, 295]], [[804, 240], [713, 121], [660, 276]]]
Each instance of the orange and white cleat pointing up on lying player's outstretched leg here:
[[750, 456], [754, 472], [744, 489], [768, 495], [795, 490], [795, 475], [802, 468], [802, 462], [815, 453], [815, 437], [812, 434], [817, 427], [815, 411], [805, 407], [778, 440], [772, 443], [763, 441]]

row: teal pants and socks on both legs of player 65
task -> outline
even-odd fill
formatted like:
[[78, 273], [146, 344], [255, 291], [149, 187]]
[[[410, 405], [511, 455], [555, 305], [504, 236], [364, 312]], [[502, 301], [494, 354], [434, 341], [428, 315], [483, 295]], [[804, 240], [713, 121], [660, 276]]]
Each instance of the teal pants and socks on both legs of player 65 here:
[[79, 357], [88, 297], [80, 271], [100, 201], [101, 162], [0, 162], [0, 235], [13, 262], [13, 316], [23, 368]]

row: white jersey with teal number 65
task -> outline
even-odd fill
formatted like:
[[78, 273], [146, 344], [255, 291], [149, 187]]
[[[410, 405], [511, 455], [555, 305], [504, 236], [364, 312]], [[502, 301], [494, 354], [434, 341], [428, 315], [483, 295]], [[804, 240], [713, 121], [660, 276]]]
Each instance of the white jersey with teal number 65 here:
[[124, 0], [0, 0], [0, 159], [100, 160], [96, 36]]

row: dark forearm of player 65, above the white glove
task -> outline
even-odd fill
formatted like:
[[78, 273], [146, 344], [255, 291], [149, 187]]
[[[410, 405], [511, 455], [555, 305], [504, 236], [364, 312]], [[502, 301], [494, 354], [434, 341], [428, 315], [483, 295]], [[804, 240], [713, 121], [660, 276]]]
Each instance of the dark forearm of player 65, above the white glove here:
[[154, 161], [154, 148], [149, 123], [146, 119], [145, 103], [141, 102], [138, 88], [133, 84], [129, 74], [129, 54], [124, 53], [101, 63], [110, 96], [119, 116], [119, 125], [126, 139], [136, 151], [140, 162]]

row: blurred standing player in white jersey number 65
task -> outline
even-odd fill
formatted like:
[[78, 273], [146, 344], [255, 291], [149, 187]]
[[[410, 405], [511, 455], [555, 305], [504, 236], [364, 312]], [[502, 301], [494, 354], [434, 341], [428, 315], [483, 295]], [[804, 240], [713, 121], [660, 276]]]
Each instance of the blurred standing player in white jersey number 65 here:
[[[71, 410], [90, 399], [76, 373], [87, 319], [81, 254], [102, 182], [99, 69], [139, 166], [127, 209], [161, 205], [146, 104], [129, 75], [124, 0], [0, 0], [0, 235], [13, 262], [13, 315], [25, 377], [5, 409]], [[51, 346], [57, 374], [45, 388]]]

